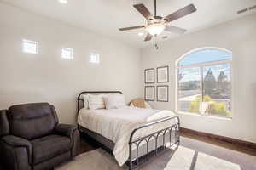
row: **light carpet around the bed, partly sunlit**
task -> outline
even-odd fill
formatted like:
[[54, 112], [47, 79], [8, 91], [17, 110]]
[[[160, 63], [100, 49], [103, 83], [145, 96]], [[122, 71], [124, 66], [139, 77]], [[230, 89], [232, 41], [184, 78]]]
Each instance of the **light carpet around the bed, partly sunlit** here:
[[[140, 169], [142, 170], [255, 170], [256, 157], [207, 144], [195, 139], [182, 138], [176, 151], [166, 151]], [[119, 167], [102, 149], [85, 152], [57, 170], [125, 170]]]

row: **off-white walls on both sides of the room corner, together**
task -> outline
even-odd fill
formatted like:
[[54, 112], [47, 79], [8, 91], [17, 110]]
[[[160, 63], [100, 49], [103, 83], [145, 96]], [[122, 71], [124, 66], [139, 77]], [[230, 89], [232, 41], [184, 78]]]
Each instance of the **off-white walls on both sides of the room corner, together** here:
[[[175, 61], [201, 47], [233, 52], [233, 119], [180, 115], [182, 127], [256, 142], [256, 15], [183, 35], [154, 47], [131, 48], [122, 42], [0, 3], [0, 108], [47, 101], [61, 122], [75, 122], [82, 90], [122, 90], [127, 102], [143, 95], [143, 69], [170, 66], [170, 102], [151, 103], [175, 110]], [[39, 42], [39, 54], [23, 54], [23, 38]], [[74, 59], [61, 59], [61, 48]], [[89, 54], [101, 64], [89, 63]], [[141, 55], [141, 59], [140, 59]], [[139, 74], [141, 73], [141, 74]]]

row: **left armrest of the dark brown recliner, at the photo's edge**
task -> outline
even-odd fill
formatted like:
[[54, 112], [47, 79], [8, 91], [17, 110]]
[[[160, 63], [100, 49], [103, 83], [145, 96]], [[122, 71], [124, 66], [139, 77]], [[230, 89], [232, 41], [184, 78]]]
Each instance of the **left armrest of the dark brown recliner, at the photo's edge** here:
[[[3, 163], [14, 169], [30, 169], [32, 164], [32, 144], [13, 135], [0, 139], [0, 150], [3, 153]], [[16, 161], [15, 161], [16, 160]]]

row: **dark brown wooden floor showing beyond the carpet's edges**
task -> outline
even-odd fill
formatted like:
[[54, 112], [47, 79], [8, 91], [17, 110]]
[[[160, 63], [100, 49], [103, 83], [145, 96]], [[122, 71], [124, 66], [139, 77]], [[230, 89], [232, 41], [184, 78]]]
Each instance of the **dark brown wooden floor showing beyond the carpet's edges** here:
[[[206, 138], [206, 137], [201, 137], [201, 136], [198, 136], [198, 135], [185, 133], [185, 132], [181, 133], [181, 136], [189, 138], [189, 139], [199, 140], [199, 141], [202, 141], [202, 142], [205, 142], [205, 143], [208, 143], [208, 144], [215, 144], [215, 145], [224, 147], [226, 149], [236, 150], [236, 151], [246, 153], [246, 154], [251, 155], [251, 156], [256, 156], [256, 150], [241, 147], [241, 146], [237, 146], [236, 144], [225, 143], [225, 142], [218, 141], [216, 139], [209, 139], [209, 138]], [[84, 153], [84, 152], [90, 151], [90, 150], [95, 150], [99, 147], [100, 147], [100, 145], [96, 144], [95, 141], [86, 138], [84, 135], [81, 136], [80, 153]]]

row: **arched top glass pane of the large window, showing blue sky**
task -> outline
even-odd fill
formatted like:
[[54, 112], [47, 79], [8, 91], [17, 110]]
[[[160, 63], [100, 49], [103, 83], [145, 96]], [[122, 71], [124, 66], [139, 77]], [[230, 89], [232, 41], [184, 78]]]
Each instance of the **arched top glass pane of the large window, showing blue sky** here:
[[194, 65], [224, 59], [232, 59], [232, 54], [218, 49], [202, 49], [188, 54], [179, 62], [179, 65]]

